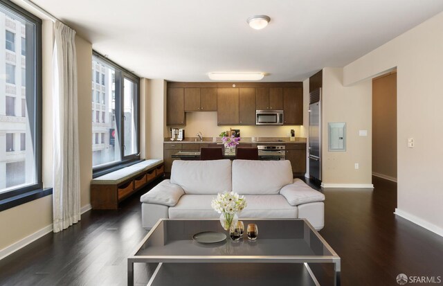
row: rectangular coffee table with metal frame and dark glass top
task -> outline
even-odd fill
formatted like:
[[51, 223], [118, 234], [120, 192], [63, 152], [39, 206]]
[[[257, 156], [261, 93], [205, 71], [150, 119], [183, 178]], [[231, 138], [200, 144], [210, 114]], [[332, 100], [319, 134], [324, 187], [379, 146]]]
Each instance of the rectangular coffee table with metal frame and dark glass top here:
[[150, 286], [156, 285], [319, 285], [309, 264], [332, 263], [340, 285], [340, 257], [304, 219], [242, 220], [258, 226], [257, 240], [244, 238], [200, 244], [192, 235], [218, 231], [219, 220], [159, 220], [127, 260], [128, 285], [134, 263], [159, 262]]

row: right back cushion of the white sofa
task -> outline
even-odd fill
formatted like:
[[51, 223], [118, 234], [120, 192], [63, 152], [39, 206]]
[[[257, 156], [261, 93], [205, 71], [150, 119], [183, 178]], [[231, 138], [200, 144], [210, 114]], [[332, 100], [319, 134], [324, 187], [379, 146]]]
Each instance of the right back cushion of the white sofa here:
[[233, 191], [240, 195], [275, 195], [292, 184], [291, 162], [233, 161]]

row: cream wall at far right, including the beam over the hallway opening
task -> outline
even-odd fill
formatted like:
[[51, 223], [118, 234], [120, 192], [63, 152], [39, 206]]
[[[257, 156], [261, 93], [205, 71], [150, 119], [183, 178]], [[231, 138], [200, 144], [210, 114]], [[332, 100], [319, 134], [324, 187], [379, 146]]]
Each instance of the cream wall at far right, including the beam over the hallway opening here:
[[[443, 12], [344, 68], [344, 84], [397, 66], [396, 213], [443, 235]], [[408, 148], [408, 138], [415, 147]]]

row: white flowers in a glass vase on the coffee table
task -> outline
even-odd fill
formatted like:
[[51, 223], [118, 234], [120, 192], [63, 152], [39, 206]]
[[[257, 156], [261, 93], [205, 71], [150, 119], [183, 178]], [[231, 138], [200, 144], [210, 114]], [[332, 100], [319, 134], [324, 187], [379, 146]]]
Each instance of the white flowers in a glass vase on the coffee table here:
[[211, 207], [217, 213], [220, 213], [220, 224], [225, 231], [230, 229], [230, 226], [235, 222], [238, 222], [237, 213], [243, 211], [246, 208], [246, 199], [244, 196], [240, 197], [234, 192], [218, 193], [217, 198], [211, 202]]

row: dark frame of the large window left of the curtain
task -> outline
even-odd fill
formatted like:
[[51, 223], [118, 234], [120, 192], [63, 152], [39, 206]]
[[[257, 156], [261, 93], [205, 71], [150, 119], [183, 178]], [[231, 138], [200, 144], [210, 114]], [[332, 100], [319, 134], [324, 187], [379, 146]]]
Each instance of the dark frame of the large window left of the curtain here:
[[[1, 6], [8, 10], [8, 12], [15, 14], [19, 17], [30, 21], [35, 25], [35, 33], [31, 35], [30, 39], [26, 41], [28, 45], [33, 46], [32, 49], [26, 46], [26, 51], [33, 51], [34, 57], [26, 56], [26, 64], [28, 61], [33, 61], [32, 65], [34, 69], [26, 69], [26, 80], [33, 80], [34, 92], [33, 92], [33, 108], [28, 108], [29, 118], [33, 118], [30, 121], [31, 137], [34, 136], [35, 140], [35, 184], [30, 184], [22, 188], [15, 188], [8, 190], [7, 192], [0, 193], [0, 211], [4, 211], [8, 208], [13, 208], [27, 202], [31, 202], [35, 199], [39, 199], [46, 195], [52, 194], [52, 188], [43, 188], [42, 182], [42, 19], [33, 15], [32, 13], [24, 10], [7, 0], [0, 0]], [[20, 52], [21, 53], [21, 52]], [[35, 80], [35, 81], [34, 81]], [[26, 89], [26, 96], [30, 89]], [[29, 103], [26, 105], [29, 107]]]

